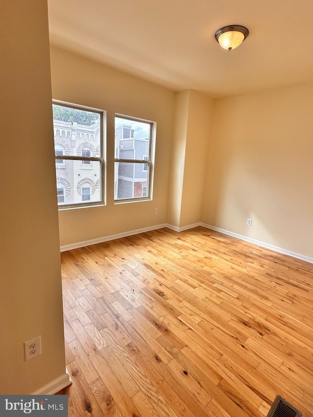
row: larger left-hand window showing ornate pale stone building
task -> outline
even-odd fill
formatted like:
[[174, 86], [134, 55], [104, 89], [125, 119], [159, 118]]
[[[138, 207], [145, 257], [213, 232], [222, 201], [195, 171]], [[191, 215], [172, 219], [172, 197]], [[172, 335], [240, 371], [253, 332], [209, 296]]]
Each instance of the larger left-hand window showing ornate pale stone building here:
[[56, 101], [52, 108], [56, 177], [64, 182], [57, 181], [58, 205], [104, 204], [105, 112]]

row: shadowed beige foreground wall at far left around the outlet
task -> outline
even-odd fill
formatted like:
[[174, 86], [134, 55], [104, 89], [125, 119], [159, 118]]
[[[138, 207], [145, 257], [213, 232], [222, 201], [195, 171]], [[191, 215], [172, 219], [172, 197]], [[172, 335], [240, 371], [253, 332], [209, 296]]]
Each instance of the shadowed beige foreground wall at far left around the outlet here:
[[0, 394], [31, 394], [65, 373], [46, 2], [2, 1], [0, 38]]

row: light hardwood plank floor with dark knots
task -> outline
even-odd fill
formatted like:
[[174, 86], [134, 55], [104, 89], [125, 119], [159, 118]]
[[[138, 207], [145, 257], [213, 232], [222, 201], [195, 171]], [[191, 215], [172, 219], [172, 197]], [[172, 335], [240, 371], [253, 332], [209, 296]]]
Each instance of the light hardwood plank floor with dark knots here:
[[197, 227], [62, 254], [69, 416], [313, 416], [313, 265]]

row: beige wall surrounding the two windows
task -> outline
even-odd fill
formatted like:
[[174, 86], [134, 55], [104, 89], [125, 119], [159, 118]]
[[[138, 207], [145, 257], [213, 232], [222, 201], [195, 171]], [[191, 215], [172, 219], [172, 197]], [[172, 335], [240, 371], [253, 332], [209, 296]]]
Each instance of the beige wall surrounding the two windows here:
[[[107, 205], [59, 211], [61, 245], [166, 223], [175, 93], [51, 47], [54, 99], [107, 110]], [[114, 115], [156, 122], [153, 201], [113, 204]], [[158, 208], [158, 214], [154, 214]]]

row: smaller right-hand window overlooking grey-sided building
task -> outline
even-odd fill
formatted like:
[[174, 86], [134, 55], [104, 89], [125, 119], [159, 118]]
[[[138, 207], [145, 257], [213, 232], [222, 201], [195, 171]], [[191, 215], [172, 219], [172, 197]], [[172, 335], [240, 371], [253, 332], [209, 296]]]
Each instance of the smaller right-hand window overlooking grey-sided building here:
[[115, 116], [115, 202], [152, 198], [155, 132], [154, 122]]

